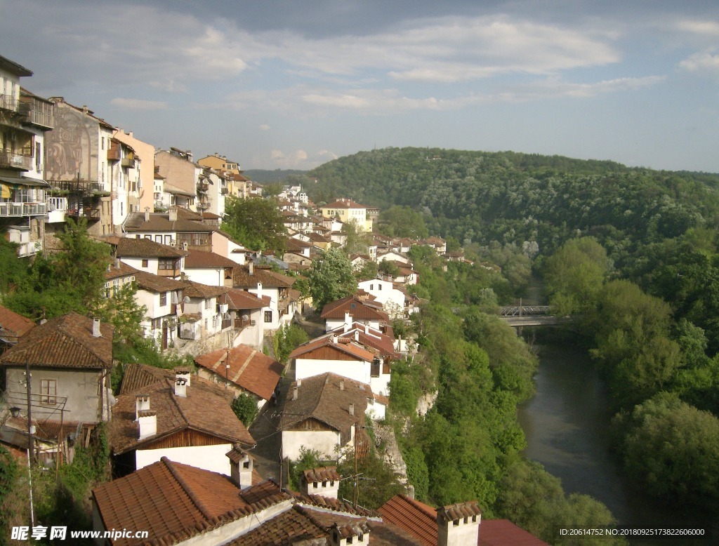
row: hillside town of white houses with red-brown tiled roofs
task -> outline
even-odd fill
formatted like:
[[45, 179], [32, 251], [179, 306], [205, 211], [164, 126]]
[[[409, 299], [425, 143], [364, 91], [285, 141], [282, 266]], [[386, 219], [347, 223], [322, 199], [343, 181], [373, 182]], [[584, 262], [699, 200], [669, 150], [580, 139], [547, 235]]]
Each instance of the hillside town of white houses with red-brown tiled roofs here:
[[[467, 262], [461, 252], [438, 236], [381, 235], [377, 208], [313, 203], [298, 185], [272, 197], [285, 251], [249, 249], [223, 227], [231, 203], [263, 198], [239, 158], [159, 149], [91, 107], [35, 95], [30, 76], [0, 57], [3, 238], [32, 260], [62, 249], [68, 222], [83, 223], [109, 248], [102, 297], [134, 287], [142, 336], [192, 363], [124, 364], [113, 389], [112, 325], [76, 313], [36, 322], [0, 307], [0, 445], [28, 468], [54, 468], [105, 427], [113, 479], [92, 491], [93, 529], [147, 534], [98, 544], [544, 544], [482, 518], [475, 499], [424, 504], [406, 476], [405, 493], [376, 510], [338, 494], [357, 479], [337, 470], [350, 455], [402, 473], [398, 450], [383, 452], [368, 428], [387, 415], [393, 364], [417, 350], [395, 332], [423, 303], [408, 252]], [[319, 307], [298, 279], [354, 232], [367, 244], [349, 253], [352, 268], [379, 271]], [[273, 339], [293, 324], [311, 338], [280, 359]], [[252, 400], [254, 422], [233, 411], [238, 397]], [[308, 450], [335, 464], [303, 471], [294, 491], [284, 462]], [[41, 525], [28, 522], [24, 537]]]

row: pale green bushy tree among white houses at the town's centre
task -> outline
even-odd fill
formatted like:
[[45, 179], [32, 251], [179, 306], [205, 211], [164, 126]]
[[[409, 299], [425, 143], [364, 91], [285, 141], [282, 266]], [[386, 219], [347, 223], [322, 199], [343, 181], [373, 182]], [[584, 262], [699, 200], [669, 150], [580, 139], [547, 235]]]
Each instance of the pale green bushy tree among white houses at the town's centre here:
[[324, 256], [313, 259], [307, 282], [317, 310], [357, 291], [352, 264], [340, 249], [329, 249]]

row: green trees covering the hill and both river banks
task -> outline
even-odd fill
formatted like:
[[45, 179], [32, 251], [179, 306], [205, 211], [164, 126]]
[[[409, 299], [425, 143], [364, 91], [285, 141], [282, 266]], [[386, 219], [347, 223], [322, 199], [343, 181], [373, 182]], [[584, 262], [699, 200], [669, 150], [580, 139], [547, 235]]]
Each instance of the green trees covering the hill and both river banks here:
[[[490, 514], [547, 537], [537, 522], [548, 518], [518, 512], [528, 492], [507, 487], [551, 491], [516, 458], [523, 440], [503, 421], [503, 409], [531, 395], [533, 365], [482, 315], [521, 297], [533, 271], [557, 312], [574, 316], [578, 343], [605, 376], [628, 475], [669, 505], [715, 513], [717, 484], [689, 468], [715, 472], [719, 456], [719, 175], [421, 148], [359, 152], [309, 175], [319, 179], [308, 190], [316, 203], [343, 196], [378, 206], [380, 231], [426, 228], [475, 262], [433, 274], [431, 256], [411, 256], [418, 295], [432, 305], [415, 324], [423, 361], [395, 368], [392, 406], [418, 496], [441, 502], [452, 490], [442, 484], [462, 483], [458, 491], [474, 492]], [[416, 417], [411, 398], [432, 388], [434, 408]], [[464, 449], [465, 438], [477, 447]]]

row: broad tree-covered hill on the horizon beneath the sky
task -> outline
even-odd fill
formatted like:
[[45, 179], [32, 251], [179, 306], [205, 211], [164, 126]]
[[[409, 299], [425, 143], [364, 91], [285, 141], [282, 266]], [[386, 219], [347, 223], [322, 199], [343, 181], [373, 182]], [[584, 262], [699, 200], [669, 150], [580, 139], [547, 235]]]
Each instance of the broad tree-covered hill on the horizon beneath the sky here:
[[630, 168], [516, 152], [385, 148], [308, 173], [315, 203], [347, 196], [422, 212], [430, 231], [461, 244], [536, 241], [543, 254], [594, 235], [613, 251], [719, 224], [719, 175]]

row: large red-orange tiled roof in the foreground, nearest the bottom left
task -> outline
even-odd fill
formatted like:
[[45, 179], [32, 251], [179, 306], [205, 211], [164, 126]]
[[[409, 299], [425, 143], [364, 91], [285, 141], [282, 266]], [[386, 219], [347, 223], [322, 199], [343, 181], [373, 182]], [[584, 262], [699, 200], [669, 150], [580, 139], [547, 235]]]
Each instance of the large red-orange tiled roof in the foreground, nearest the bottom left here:
[[223, 474], [162, 457], [128, 476], [96, 487], [93, 499], [105, 529], [149, 532], [149, 539], [119, 538], [112, 541], [113, 546], [164, 546], [292, 499], [276, 486], [258, 495], [264, 485], [240, 491]]

